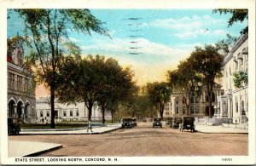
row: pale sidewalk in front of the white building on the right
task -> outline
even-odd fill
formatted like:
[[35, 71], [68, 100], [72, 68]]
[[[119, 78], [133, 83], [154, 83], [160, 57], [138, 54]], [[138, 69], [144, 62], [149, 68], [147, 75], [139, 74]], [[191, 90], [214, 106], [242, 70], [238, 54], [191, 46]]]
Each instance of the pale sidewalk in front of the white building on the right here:
[[223, 126], [208, 126], [204, 124], [195, 124], [195, 130], [208, 134], [248, 134], [248, 129], [239, 129]]

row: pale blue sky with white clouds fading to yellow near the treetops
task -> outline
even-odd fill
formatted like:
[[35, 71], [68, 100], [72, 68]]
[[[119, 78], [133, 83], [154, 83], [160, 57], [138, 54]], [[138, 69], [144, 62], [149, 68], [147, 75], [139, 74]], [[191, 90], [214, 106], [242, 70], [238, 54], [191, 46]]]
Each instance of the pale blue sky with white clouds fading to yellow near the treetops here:
[[[69, 31], [69, 38], [82, 54], [102, 54], [131, 66], [139, 84], [165, 81], [166, 71], [177, 66], [195, 49], [217, 43], [227, 33], [239, 37], [247, 21], [228, 27], [230, 14], [212, 14], [212, 9], [91, 9], [105, 22], [112, 37]], [[22, 32], [15, 14], [8, 20], [8, 36]], [[129, 20], [129, 18], [139, 18]], [[131, 43], [136, 42], [136, 43]], [[131, 49], [137, 48], [137, 49]]]

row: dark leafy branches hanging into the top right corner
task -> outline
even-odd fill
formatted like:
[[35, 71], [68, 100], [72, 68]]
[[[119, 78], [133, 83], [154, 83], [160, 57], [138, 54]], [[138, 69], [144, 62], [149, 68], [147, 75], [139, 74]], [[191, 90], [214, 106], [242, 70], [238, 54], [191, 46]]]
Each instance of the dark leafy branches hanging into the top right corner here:
[[[232, 14], [230, 20], [228, 21], [228, 26], [233, 26], [237, 21], [242, 22], [243, 20], [248, 20], [248, 10], [247, 9], [213, 9], [213, 13], [219, 14]], [[240, 31], [241, 34], [248, 32], [248, 26]]]

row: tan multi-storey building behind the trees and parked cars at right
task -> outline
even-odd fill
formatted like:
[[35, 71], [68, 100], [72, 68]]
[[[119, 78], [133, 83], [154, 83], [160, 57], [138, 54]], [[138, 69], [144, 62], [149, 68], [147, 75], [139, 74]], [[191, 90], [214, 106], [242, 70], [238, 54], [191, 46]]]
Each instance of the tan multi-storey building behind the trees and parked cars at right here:
[[[212, 94], [212, 116], [219, 117], [220, 112], [218, 111], [218, 96], [223, 94], [221, 85], [214, 83], [213, 94]], [[200, 96], [194, 95], [189, 99], [189, 116], [193, 117], [207, 117], [208, 115], [208, 97], [207, 89], [204, 88]], [[186, 103], [183, 99], [183, 94], [174, 90], [171, 96], [171, 100], [166, 103], [164, 116], [163, 117], [183, 117], [185, 114]]]

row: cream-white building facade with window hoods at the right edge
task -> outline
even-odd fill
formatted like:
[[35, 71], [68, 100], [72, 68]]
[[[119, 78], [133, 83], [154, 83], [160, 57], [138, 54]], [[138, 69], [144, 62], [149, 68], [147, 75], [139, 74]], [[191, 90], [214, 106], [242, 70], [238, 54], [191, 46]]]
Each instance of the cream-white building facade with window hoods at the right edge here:
[[242, 72], [248, 74], [248, 35], [241, 36], [223, 62], [224, 95], [218, 98], [220, 112], [226, 117], [233, 118], [233, 123], [247, 122], [248, 115], [248, 86], [242, 83], [236, 87], [234, 74]]

